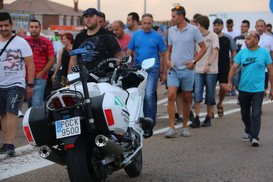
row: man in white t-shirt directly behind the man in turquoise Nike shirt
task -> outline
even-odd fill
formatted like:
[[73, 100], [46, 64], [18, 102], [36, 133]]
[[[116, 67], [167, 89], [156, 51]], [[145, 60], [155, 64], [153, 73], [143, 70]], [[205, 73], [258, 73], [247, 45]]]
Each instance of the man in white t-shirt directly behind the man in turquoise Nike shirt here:
[[[255, 28], [260, 35], [260, 41], [258, 42], [258, 45], [268, 50], [269, 54], [271, 55], [271, 60], [273, 61], [273, 38], [265, 33], [265, 21], [262, 19], [258, 20], [256, 22]], [[244, 48], [246, 48], [245, 43], [242, 45], [241, 49]], [[265, 69], [265, 95], [266, 90], [268, 89], [268, 78], [268, 70]]]

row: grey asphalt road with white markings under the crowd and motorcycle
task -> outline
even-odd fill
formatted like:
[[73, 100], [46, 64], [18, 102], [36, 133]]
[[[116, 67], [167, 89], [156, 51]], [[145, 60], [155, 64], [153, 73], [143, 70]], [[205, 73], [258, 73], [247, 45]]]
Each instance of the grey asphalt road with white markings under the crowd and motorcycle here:
[[[164, 86], [158, 88], [158, 101], [167, 97], [164, 95]], [[218, 97], [216, 97], [218, 100]], [[120, 181], [185, 181], [185, 182], [273, 182], [273, 125], [272, 107], [273, 102], [264, 99], [261, 117], [260, 146], [252, 147], [250, 142], [244, 142], [244, 124], [241, 121], [239, 106], [236, 104], [237, 96], [228, 96], [224, 100], [224, 116], [213, 119], [212, 126], [207, 128], [189, 129], [190, 137], [180, 135], [177, 138], [167, 139], [164, 132], [156, 134], [143, 143], [143, 169], [138, 177], [129, 177], [124, 170], [114, 172], [107, 182]], [[157, 125], [154, 131], [169, 126], [167, 117], [167, 102], [158, 105]], [[237, 110], [236, 110], [237, 109]], [[27, 110], [24, 103], [23, 111]], [[201, 105], [201, 113], [206, 112], [204, 103]], [[214, 108], [215, 116], [217, 109]], [[204, 117], [204, 116], [203, 116]], [[0, 131], [0, 143], [4, 142], [2, 131]], [[22, 118], [15, 136], [14, 144], [17, 148], [25, 146], [28, 141], [22, 131]], [[15, 149], [16, 150], [16, 149]], [[16, 171], [17, 160], [21, 160], [29, 151], [19, 153], [12, 160], [0, 155], [0, 179], [2, 174]], [[38, 156], [37, 154], [33, 154]], [[1, 158], [2, 157], [2, 158]], [[21, 157], [21, 158], [20, 158]], [[31, 157], [32, 158], [32, 157]], [[35, 157], [34, 157], [35, 158]], [[28, 160], [22, 161], [25, 168], [31, 168], [33, 163]], [[34, 161], [41, 165], [47, 160]], [[5, 166], [10, 166], [6, 168]], [[18, 164], [18, 168], [21, 165]], [[12, 169], [12, 170], [10, 170]], [[58, 164], [48, 165], [35, 170], [30, 170], [19, 175], [5, 178], [5, 182], [42, 182], [42, 181], [69, 181], [65, 166]]]

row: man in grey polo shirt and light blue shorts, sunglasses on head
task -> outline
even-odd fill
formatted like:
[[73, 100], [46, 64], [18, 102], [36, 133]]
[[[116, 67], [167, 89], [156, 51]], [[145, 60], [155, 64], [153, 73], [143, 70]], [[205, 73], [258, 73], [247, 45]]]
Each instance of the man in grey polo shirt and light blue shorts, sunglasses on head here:
[[[183, 97], [183, 125], [182, 136], [190, 136], [187, 129], [187, 121], [190, 114], [190, 95], [194, 84], [194, 65], [207, 51], [203, 36], [197, 26], [190, 25], [185, 21], [186, 11], [182, 6], [172, 9], [172, 22], [175, 26], [169, 29], [168, 50], [166, 56], [167, 70], [164, 78], [167, 77], [168, 86], [168, 114], [170, 129], [165, 137], [176, 137], [174, 128], [174, 114], [176, 93], [179, 85]], [[201, 47], [201, 51], [194, 58], [195, 43]]]

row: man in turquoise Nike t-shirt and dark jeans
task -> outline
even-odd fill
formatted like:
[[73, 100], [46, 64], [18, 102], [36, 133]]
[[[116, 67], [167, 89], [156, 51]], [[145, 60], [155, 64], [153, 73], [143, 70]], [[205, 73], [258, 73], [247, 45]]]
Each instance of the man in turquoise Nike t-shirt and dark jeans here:
[[[245, 33], [245, 49], [234, 57], [234, 63], [228, 74], [227, 91], [231, 92], [232, 79], [236, 69], [241, 65], [241, 80], [239, 83], [240, 105], [242, 120], [245, 125], [243, 141], [251, 142], [252, 146], [259, 146], [259, 132], [261, 128], [261, 106], [265, 89], [265, 67], [268, 69], [271, 90], [269, 98], [273, 100], [273, 68], [268, 50], [258, 46], [260, 35], [257, 31]], [[252, 110], [251, 109], [252, 105]]]

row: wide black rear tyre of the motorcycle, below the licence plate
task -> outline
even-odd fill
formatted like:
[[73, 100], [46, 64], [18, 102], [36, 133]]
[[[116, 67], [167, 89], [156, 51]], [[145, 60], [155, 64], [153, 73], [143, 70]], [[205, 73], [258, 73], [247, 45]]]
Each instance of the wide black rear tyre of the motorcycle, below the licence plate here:
[[[92, 145], [92, 144], [90, 144]], [[93, 170], [88, 141], [79, 136], [73, 148], [66, 149], [66, 164], [71, 182], [101, 182]], [[89, 151], [89, 152], [87, 152]]]

